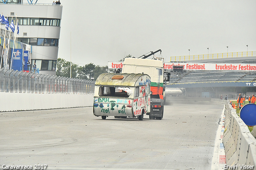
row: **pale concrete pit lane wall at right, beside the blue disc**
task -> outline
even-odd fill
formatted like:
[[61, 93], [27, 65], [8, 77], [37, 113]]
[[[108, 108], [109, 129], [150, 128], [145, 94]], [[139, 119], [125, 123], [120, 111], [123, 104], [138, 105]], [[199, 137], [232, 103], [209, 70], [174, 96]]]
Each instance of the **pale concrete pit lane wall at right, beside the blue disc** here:
[[250, 133], [248, 127], [236, 114], [236, 110], [228, 103], [229, 101], [211, 99], [212, 102], [226, 105], [223, 144], [228, 166], [240, 165], [254, 166], [256, 169], [256, 139]]

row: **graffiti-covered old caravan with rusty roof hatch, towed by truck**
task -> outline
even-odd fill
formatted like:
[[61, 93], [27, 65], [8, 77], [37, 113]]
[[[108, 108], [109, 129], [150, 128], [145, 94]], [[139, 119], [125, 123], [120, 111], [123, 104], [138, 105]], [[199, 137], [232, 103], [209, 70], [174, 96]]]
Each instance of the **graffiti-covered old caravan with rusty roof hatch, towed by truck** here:
[[95, 82], [93, 114], [102, 119], [150, 113], [150, 77], [144, 73], [102, 73]]

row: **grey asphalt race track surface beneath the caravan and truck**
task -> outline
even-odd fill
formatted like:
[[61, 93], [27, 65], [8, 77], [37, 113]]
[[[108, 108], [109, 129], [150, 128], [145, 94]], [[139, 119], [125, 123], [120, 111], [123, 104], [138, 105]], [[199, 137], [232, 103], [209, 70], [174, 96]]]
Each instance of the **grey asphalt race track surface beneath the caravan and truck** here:
[[168, 103], [162, 120], [102, 120], [92, 107], [2, 112], [0, 169], [211, 169], [224, 105]]

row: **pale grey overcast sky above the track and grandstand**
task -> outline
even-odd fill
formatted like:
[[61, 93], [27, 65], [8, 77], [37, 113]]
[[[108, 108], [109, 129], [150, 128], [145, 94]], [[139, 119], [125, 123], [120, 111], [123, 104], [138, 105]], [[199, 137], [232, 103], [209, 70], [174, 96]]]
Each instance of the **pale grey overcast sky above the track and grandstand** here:
[[[256, 51], [256, 0], [60, 0], [58, 57], [105, 66], [126, 55]], [[52, 3], [52, 0], [38, 0]], [[160, 53], [156, 53], [158, 57]]]

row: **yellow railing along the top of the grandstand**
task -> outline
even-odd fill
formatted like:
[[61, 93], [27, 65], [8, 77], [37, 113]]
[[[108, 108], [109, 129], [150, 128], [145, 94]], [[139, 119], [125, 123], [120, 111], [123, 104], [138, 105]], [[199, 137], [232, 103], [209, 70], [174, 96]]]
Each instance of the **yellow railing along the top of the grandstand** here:
[[256, 56], [256, 51], [202, 54], [202, 55], [183, 55], [183, 56], [171, 57], [170, 62], [171, 61], [191, 61], [191, 60], [201, 60], [201, 59], [233, 58], [233, 57], [255, 57], [255, 56]]

